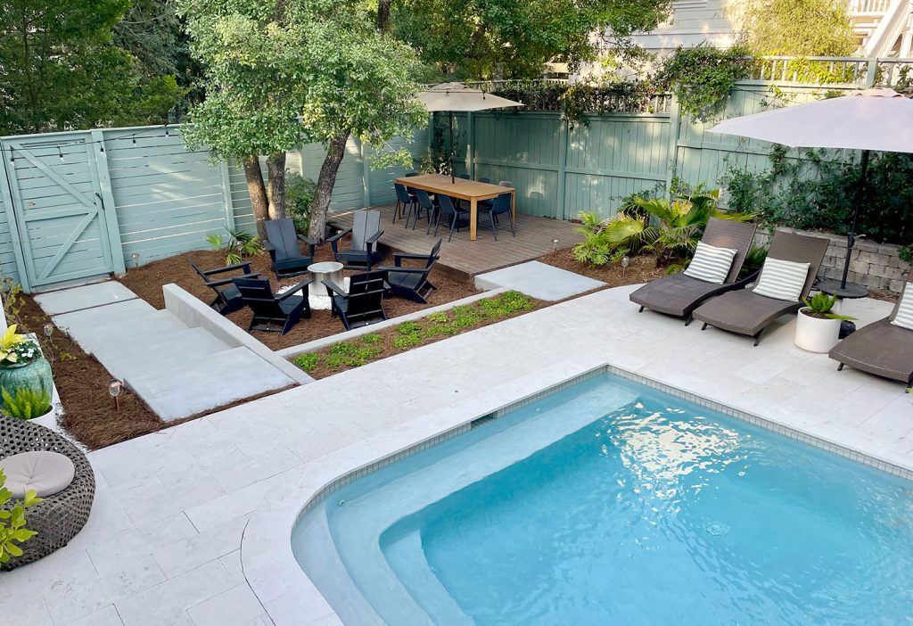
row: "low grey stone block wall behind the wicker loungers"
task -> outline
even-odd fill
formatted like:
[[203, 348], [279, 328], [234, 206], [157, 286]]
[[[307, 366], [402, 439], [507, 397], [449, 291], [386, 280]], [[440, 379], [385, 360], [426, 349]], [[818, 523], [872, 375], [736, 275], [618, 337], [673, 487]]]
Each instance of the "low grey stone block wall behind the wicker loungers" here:
[[[792, 228], [781, 228], [792, 233], [825, 237], [831, 245], [827, 247], [824, 263], [818, 276], [821, 278], [840, 278], [843, 276], [846, 259], [845, 235], [829, 233], [809, 233]], [[755, 245], [768, 245], [771, 235], [759, 232], [755, 235]], [[904, 287], [910, 266], [900, 260], [900, 246], [893, 244], [876, 244], [865, 238], [857, 239], [850, 256], [850, 273], [847, 280], [865, 285], [870, 289], [883, 289], [899, 294]]]

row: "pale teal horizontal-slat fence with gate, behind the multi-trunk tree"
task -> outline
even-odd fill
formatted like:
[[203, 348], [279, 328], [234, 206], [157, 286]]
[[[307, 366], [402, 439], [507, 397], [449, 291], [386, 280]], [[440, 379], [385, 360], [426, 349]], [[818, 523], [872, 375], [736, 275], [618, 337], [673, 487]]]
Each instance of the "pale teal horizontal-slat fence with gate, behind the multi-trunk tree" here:
[[[428, 140], [392, 144], [420, 161]], [[205, 248], [226, 225], [254, 229], [243, 170], [185, 150], [180, 127], [5, 137], [0, 150], [0, 273], [29, 290]], [[393, 201], [404, 168], [375, 171], [372, 155], [349, 141], [331, 210]], [[323, 156], [305, 145], [286, 166], [315, 180]]]

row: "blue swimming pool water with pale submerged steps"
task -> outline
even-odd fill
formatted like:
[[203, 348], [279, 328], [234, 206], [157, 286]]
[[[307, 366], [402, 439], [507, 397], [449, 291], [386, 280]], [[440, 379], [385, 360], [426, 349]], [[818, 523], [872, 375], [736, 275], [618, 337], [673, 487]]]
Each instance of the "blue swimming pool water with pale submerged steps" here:
[[351, 624], [911, 624], [911, 487], [605, 375], [342, 487], [292, 547]]

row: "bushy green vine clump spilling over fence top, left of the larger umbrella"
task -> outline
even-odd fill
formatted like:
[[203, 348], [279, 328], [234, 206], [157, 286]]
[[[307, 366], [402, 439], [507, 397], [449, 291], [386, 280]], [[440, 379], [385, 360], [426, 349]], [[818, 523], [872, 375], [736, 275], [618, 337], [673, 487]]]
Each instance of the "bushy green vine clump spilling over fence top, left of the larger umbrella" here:
[[683, 113], [704, 119], [726, 106], [736, 81], [750, 76], [751, 62], [745, 47], [679, 47], [663, 61], [657, 82], [676, 95]]

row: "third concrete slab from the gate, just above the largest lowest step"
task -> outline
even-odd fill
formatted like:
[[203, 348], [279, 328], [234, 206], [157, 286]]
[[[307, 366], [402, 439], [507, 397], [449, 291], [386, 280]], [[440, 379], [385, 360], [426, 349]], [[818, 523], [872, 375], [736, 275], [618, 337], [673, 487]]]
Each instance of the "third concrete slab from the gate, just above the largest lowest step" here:
[[149, 371], [167, 370], [197, 357], [229, 350], [225, 341], [215, 339], [204, 329], [180, 329], [108, 346], [95, 352], [111, 375], [121, 381]]

